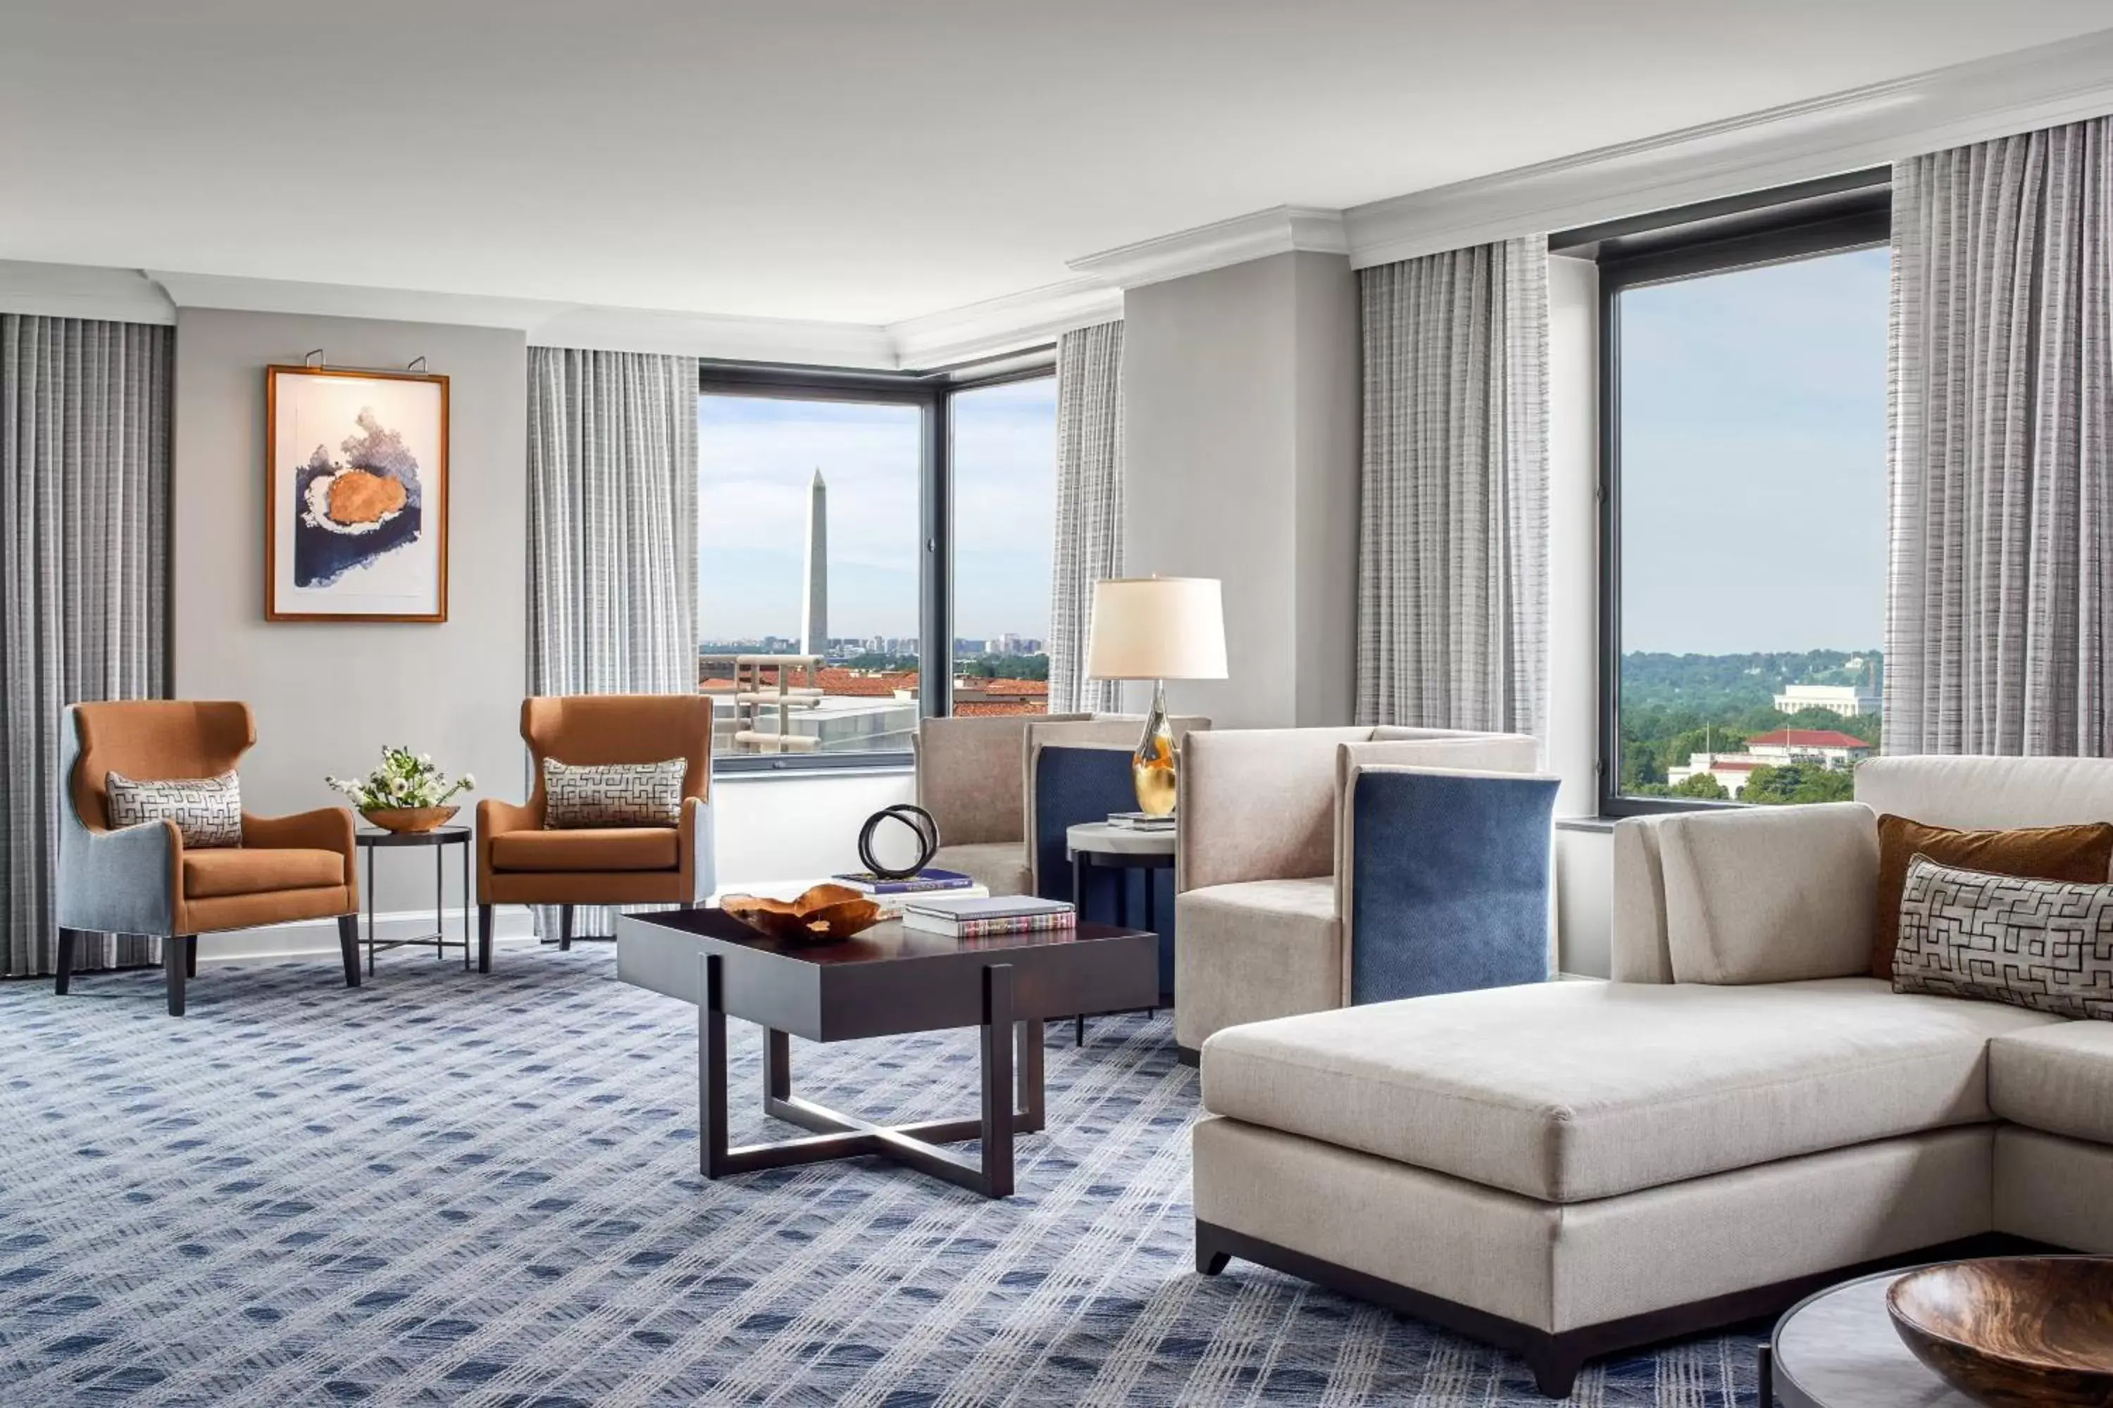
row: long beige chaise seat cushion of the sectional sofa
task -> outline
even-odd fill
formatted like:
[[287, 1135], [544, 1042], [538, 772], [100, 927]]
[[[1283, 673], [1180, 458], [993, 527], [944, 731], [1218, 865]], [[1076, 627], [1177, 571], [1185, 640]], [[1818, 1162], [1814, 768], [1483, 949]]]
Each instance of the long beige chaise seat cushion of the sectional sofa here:
[[1202, 1096], [1213, 1115], [1570, 1203], [1986, 1121], [1988, 1039], [2052, 1022], [1872, 977], [1555, 982], [1226, 1030]]

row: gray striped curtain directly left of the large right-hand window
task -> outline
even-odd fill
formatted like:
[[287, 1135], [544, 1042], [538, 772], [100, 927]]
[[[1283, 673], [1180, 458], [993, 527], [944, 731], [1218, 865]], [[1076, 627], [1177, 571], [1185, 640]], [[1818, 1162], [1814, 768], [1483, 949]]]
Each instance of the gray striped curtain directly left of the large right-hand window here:
[[1357, 718], [1542, 732], [1545, 239], [1361, 270]]

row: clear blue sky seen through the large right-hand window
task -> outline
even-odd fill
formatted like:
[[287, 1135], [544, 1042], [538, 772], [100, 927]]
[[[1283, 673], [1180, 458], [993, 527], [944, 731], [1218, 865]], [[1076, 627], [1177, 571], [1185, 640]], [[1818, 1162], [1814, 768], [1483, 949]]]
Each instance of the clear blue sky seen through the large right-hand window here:
[[1621, 293], [1623, 650], [1883, 646], [1887, 270]]

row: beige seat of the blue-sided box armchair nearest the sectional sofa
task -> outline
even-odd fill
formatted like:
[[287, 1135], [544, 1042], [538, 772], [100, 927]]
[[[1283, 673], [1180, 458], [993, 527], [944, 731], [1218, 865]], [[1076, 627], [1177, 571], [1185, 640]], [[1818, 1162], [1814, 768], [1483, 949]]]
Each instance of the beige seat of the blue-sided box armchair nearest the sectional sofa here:
[[1238, 880], [1175, 901], [1175, 1041], [1221, 1026], [1340, 1007], [1335, 878]]

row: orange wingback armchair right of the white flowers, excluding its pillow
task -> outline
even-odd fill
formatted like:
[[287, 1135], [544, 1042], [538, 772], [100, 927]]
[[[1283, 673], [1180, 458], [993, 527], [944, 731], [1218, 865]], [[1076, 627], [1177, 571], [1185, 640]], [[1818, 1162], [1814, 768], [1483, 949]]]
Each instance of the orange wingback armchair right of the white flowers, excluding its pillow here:
[[[558, 906], [560, 948], [573, 906], [680, 903], [712, 893], [712, 701], [704, 695], [549, 695], [522, 701], [535, 764], [528, 802], [478, 802], [478, 967], [492, 971], [492, 906]], [[685, 758], [676, 825], [551, 830], [543, 760], [575, 766]]]

